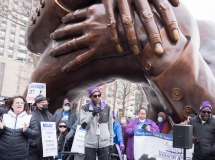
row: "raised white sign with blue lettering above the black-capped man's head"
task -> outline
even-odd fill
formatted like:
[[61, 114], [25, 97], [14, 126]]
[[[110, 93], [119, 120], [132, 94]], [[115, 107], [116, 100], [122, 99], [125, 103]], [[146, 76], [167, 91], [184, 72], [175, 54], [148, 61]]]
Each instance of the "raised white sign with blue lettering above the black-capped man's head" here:
[[46, 97], [46, 84], [45, 83], [31, 83], [28, 85], [28, 93], [26, 100], [28, 103], [34, 103], [34, 98], [42, 94]]

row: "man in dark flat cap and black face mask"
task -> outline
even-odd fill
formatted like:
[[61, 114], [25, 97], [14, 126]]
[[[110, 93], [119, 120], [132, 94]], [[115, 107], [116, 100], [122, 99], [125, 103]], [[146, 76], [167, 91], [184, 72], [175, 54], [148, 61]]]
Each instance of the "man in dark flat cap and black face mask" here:
[[[54, 118], [48, 111], [48, 98], [40, 94], [34, 100], [33, 105], [36, 106], [36, 109], [31, 114], [36, 119], [39, 131], [41, 131], [40, 122], [54, 122]], [[43, 157], [41, 134], [36, 139], [29, 139], [28, 160], [48, 160], [48, 157]]]

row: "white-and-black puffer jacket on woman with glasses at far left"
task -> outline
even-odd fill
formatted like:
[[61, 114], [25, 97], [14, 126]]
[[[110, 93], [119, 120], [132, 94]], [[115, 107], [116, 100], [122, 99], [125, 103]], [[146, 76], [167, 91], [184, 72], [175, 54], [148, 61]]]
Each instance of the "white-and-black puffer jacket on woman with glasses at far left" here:
[[[0, 120], [4, 119], [4, 128], [0, 129], [0, 159], [1, 160], [21, 160], [28, 157], [28, 138], [39, 136], [39, 128], [32, 115], [25, 111], [15, 115], [12, 110], [4, 114]], [[27, 130], [23, 132], [24, 123]]]

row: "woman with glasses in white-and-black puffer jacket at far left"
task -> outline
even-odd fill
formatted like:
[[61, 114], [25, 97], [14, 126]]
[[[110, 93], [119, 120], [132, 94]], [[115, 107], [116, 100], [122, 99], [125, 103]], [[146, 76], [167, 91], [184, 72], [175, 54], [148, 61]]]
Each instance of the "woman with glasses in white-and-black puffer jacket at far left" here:
[[0, 117], [0, 160], [25, 160], [28, 157], [28, 139], [39, 136], [36, 120], [22, 96], [8, 102], [8, 113]]

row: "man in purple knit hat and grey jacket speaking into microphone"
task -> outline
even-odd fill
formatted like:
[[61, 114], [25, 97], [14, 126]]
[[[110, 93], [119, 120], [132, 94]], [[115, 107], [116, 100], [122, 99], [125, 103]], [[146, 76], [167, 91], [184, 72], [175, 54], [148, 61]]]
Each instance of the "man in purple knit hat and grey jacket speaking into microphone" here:
[[113, 126], [111, 107], [101, 100], [101, 90], [88, 89], [90, 102], [81, 109], [81, 127], [85, 129], [84, 160], [108, 160], [113, 149]]

